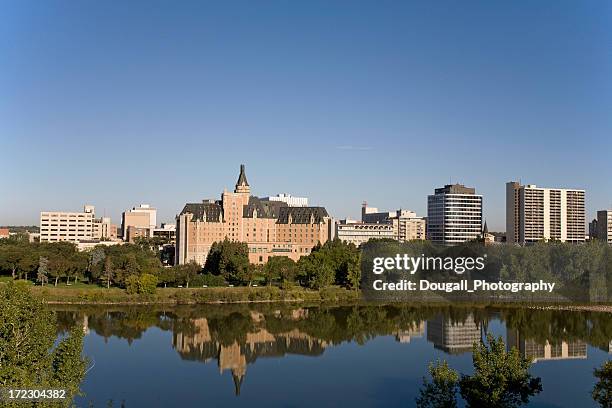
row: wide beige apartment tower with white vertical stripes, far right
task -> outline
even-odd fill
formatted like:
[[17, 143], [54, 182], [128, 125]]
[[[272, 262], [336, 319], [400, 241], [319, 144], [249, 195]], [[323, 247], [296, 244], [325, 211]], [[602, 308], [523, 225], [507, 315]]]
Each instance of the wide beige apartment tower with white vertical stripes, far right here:
[[506, 240], [584, 242], [584, 190], [506, 183]]

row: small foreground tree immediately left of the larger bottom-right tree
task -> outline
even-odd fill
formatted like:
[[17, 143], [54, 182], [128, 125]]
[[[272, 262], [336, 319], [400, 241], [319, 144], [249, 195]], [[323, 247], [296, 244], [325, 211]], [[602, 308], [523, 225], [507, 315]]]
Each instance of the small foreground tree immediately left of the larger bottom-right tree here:
[[446, 361], [429, 364], [432, 381], [423, 378], [423, 388], [416, 399], [418, 408], [455, 408], [457, 407], [457, 383], [459, 374], [449, 368]]

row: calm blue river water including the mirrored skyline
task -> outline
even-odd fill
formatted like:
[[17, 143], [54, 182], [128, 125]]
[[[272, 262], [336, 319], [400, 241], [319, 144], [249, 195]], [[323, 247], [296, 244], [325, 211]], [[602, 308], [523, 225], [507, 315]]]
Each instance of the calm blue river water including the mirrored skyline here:
[[414, 406], [427, 365], [471, 372], [485, 332], [535, 360], [534, 407], [595, 406], [612, 314], [410, 306], [57, 308], [87, 333], [78, 406]]

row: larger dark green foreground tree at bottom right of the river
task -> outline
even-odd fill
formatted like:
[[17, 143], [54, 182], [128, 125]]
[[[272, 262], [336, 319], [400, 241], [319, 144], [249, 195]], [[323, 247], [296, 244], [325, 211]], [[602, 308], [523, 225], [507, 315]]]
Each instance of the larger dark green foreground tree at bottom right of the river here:
[[540, 378], [529, 374], [531, 361], [523, 358], [516, 348], [506, 351], [501, 336], [487, 336], [488, 345], [474, 344], [472, 361], [474, 375], [462, 375], [461, 396], [469, 407], [518, 407], [529, 397], [542, 391]]

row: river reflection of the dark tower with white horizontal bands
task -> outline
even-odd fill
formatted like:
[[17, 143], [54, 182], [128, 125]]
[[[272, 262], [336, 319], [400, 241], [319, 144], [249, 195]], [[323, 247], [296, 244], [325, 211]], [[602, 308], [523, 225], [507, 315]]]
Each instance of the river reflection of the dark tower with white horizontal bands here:
[[475, 342], [480, 341], [480, 328], [469, 315], [464, 322], [451, 322], [439, 315], [427, 321], [427, 341], [434, 347], [450, 354], [472, 351]]

